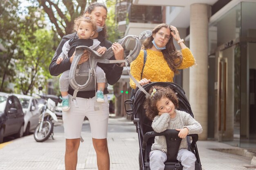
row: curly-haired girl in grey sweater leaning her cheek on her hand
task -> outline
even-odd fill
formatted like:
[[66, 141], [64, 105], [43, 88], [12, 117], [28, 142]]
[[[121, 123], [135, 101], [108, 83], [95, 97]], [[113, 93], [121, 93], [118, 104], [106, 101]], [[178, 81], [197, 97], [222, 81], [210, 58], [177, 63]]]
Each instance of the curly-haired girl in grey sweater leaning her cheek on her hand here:
[[[182, 141], [177, 160], [181, 162], [183, 170], [195, 170], [196, 157], [188, 150], [186, 136], [202, 133], [202, 126], [190, 114], [175, 110], [175, 107], [178, 107], [178, 99], [170, 87], [153, 86], [149, 94], [151, 97], [146, 99], [144, 107], [146, 116], [153, 121], [153, 130], [158, 133], [166, 129], [180, 131], [178, 136], [182, 138]], [[149, 155], [150, 170], [164, 170], [166, 153], [165, 137], [156, 136]]]

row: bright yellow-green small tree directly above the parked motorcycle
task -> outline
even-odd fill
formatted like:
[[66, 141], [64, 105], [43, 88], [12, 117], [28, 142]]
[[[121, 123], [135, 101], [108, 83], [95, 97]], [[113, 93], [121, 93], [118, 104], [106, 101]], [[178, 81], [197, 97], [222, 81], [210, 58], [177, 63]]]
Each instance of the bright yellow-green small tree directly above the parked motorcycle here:
[[23, 94], [32, 94], [39, 86], [45, 86], [50, 78], [49, 63], [54, 55], [54, 34], [45, 29], [37, 29], [32, 38], [23, 34], [20, 48], [24, 53], [24, 60], [16, 63], [18, 74], [15, 87]]

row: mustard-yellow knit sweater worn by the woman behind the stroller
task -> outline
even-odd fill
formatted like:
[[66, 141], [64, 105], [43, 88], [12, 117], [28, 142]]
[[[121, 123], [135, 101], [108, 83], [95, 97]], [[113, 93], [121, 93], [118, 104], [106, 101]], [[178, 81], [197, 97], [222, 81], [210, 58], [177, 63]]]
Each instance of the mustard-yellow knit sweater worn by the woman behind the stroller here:
[[[181, 50], [183, 60], [178, 69], [185, 69], [195, 64], [195, 58], [189, 48]], [[132, 76], [139, 82], [144, 63], [144, 51], [130, 65]], [[147, 49], [147, 60], [144, 66], [142, 78], [150, 79], [151, 82], [173, 82], [174, 72], [170, 69], [162, 52]], [[135, 83], [130, 79], [130, 86], [135, 89]]]

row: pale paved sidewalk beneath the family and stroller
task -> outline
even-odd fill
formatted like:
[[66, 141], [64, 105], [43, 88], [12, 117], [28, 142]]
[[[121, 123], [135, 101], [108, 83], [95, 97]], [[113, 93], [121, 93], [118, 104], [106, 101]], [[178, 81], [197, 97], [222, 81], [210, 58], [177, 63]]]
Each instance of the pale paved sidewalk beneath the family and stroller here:
[[[83, 129], [88, 126], [84, 122]], [[128, 132], [119, 132], [115, 126]], [[0, 144], [0, 170], [64, 170], [65, 137], [61, 125], [54, 127], [54, 139], [43, 143], [33, 135]], [[96, 154], [90, 131], [82, 132], [85, 142], [80, 144], [77, 170], [97, 170]], [[198, 141], [203, 170], [256, 170], [252, 158], [219, 152], [213, 149], [239, 149], [216, 141]], [[135, 125], [126, 118], [110, 118], [108, 128], [110, 170], [139, 170], [139, 142]]]

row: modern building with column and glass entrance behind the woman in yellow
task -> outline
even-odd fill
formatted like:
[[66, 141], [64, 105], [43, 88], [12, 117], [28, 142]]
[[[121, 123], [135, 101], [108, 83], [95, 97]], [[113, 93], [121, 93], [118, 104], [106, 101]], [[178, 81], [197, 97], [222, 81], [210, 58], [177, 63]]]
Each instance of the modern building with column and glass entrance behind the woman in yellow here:
[[[191, 49], [197, 65], [174, 82], [182, 85], [202, 124], [201, 140], [256, 148], [255, 9], [256, 0], [117, 0], [120, 38], [164, 22], [177, 27]], [[133, 47], [129, 43], [126, 54]], [[116, 113], [124, 116], [131, 92], [126, 68], [114, 89]]]

